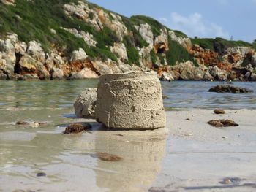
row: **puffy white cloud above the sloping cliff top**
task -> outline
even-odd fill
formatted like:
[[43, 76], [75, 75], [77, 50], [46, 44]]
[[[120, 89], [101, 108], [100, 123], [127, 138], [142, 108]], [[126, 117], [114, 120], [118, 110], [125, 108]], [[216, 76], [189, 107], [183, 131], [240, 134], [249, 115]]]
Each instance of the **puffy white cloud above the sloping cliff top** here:
[[[256, 0], [255, 0], [256, 1]], [[222, 26], [203, 20], [203, 16], [195, 12], [188, 17], [172, 12], [170, 18], [159, 18], [171, 29], [184, 32], [189, 37], [223, 37], [230, 38], [230, 35], [223, 31]]]

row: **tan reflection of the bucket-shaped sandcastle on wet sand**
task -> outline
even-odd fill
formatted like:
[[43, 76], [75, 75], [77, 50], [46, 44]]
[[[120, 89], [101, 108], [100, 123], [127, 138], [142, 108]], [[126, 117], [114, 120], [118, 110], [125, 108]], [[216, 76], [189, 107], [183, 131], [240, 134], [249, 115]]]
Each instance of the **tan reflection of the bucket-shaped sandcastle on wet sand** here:
[[[97, 186], [110, 191], [147, 191], [161, 169], [165, 155], [165, 128], [155, 131], [116, 131], [96, 134], [96, 148], [124, 158], [122, 161], [97, 160]], [[106, 135], [107, 134], [107, 135]], [[99, 171], [102, 170], [102, 171]]]

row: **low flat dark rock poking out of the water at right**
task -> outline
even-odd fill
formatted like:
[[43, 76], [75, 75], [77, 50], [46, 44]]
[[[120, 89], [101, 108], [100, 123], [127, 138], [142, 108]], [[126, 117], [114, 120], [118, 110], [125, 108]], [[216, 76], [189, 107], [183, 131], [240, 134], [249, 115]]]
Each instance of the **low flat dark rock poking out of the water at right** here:
[[253, 92], [250, 89], [239, 88], [230, 85], [217, 85], [213, 88], [209, 89], [209, 92], [217, 92], [217, 93], [250, 93]]

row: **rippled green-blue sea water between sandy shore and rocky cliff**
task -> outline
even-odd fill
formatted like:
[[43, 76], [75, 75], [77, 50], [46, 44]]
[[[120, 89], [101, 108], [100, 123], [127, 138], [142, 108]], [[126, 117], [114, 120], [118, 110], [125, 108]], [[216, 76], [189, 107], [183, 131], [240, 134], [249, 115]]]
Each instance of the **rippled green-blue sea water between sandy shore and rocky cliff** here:
[[[97, 87], [97, 80], [0, 82], [0, 108], [72, 107], [84, 88]], [[208, 90], [226, 82], [162, 82], [166, 110], [184, 109], [256, 109], [256, 82], [233, 85], [254, 90], [253, 93], [211, 93]]]

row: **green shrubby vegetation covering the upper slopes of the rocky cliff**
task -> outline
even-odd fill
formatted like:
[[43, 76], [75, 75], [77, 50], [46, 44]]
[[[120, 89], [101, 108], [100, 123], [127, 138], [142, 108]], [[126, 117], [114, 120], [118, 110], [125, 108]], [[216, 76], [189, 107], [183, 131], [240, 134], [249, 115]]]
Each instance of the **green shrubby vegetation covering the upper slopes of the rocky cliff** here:
[[[108, 13], [110, 20], [114, 19], [114, 12], [97, 6], [85, 1], [89, 5], [88, 18], [94, 19], [97, 15], [92, 10], [103, 9]], [[162, 31], [169, 31], [170, 29], [163, 26], [159, 21], [153, 18], [134, 15], [131, 18], [121, 17], [121, 22], [127, 27], [128, 35], [123, 38], [118, 37], [116, 31], [111, 30], [107, 26], [104, 26], [101, 30], [97, 30], [93, 26], [86, 24], [83, 20], [79, 20], [75, 17], [69, 17], [64, 12], [64, 4], [78, 4], [78, 0], [16, 0], [15, 6], [7, 6], [0, 1], [0, 36], [4, 36], [7, 32], [18, 34], [18, 38], [21, 41], [29, 42], [36, 40], [41, 43], [42, 48], [49, 52], [53, 47], [57, 48], [64, 56], [69, 56], [73, 50], [83, 48], [87, 55], [91, 58], [100, 58], [102, 61], [110, 58], [113, 61], [117, 61], [116, 53], [110, 51], [110, 46], [113, 46], [115, 42], [123, 42], [127, 48], [128, 61], [127, 64], [140, 65], [140, 55], [138, 48], [147, 47], [148, 43], [143, 39], [142, 35], [136, 29], [135, 26], [148, 23], [151, 27], [151, 31], [154, 34], [154, 39], [162, 34]], [[89, 10], [89, 11], [90, 11]], [[77, 29], [78, 31], [86, 31], [92, 34], [94, 40], [97, 42], [96, 47], [89, 46], [86, 42], [80, 38], [75, 37], [69, 31], [64, 28]], [[187, 35], [181, 31], [174, 31], [177, 37], [187, 38]], [[144, 37], [145, 38], [145, 37]], [[246, 46], [256, 47], [256, 44], [250, 44], [242, 41], [227, 41], [226, 39], [191, 39], [192, 44], [200, 45], [200, 47], [214, 50], [220, 55], [223, 55], [227, 47]], [[168, 40], [170, 50], [167, 53], [154, 53], [151, 50], [150, 55], [153, 63], [160, 61], [162, 64], [175, 65], [176, 61], [192, 61], [196, 66], [197, 63], [193, 59], [192, 55], [182, 47], [178, 42], [170, 39]], [[165, 54], [165, 55], [163, 55]], [[246, 62], [244, 63], [246, 64]]]

